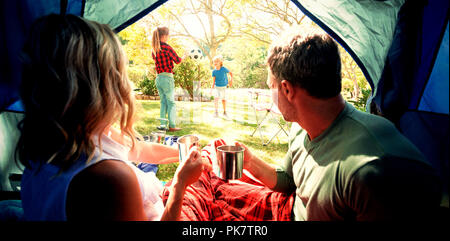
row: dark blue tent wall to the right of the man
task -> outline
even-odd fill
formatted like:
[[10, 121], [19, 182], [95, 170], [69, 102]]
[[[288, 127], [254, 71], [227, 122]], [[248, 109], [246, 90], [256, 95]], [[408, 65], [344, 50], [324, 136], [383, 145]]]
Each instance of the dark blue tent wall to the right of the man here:
[[448, 1], [407, 1], [373, 103], [427, 157], [448, 195]]

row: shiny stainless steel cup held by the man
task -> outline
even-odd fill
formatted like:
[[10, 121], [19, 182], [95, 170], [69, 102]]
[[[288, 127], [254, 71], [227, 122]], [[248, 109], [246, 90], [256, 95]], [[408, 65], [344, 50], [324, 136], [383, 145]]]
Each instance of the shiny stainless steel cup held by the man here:
[[240, 146], [217, 147], [217, 165], [214, 172], [224, 180], [239, 179], [244, 168], [244, 148]]

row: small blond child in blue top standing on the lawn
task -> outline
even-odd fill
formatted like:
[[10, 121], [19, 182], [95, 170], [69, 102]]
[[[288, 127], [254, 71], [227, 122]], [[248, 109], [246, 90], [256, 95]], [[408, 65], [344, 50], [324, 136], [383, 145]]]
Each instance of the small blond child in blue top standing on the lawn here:
[[[223, 115], [228, 117], [226, 110], [226, 89], [228, 84], [232, 85], [233, 83], [233, 74], [223, 66], [222, 56], [216, 56], [213, 59], [214, 70], [212, 72], [213, 77], [213, 86], [215, 88], [214, 95], [214, 107], [215, 107], [215, 117], [218, 117], [218, 101], [222, 99], [223, 105]], [[230, 80], [228, 81], [228, 74], [230, 74]]]

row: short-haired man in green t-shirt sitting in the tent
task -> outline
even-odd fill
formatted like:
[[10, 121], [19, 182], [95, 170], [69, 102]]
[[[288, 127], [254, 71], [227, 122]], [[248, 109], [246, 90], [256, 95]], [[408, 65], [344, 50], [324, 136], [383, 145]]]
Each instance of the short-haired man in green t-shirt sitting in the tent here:
[[282, 39], [269, 51], [267, 84], [286, 121], [294, 122], [289, 150], [276, 168], [246, 149], [244, 168], [275, 191], [295, 190], [295, 220], [430, 215], [440, 202], [437, 176], [391, 122], [342, 98], [333, 39], [312, 29]]

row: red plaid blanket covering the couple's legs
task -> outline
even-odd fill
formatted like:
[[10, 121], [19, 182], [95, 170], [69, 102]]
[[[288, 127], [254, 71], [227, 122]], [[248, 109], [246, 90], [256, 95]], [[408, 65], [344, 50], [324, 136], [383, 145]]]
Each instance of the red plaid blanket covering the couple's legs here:
[[[215, 158], [215, 148], [224, 145], [221, 139], [202, 149], [202, 156]], [[170, 183], [163, 190], [164, 205], [169, 197]], [[189, 186], [183, 200], [181, 220], [189, 221], [289, 221], [294, 194], [274, 192], [244, 170], [239, 180], [226, 182], [213, 172], [200, 176]]]

